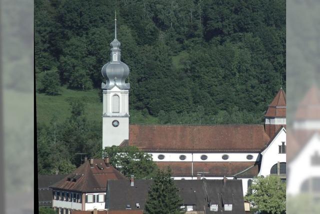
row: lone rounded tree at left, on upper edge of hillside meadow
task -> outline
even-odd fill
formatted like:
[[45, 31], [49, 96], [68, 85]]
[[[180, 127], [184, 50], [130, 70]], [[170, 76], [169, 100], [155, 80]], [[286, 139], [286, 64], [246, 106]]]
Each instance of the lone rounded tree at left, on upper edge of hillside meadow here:
[[56, 71], [47, 71], [41, 79], [40, 92], [47, 95], [57, 95], [60, 92], [59, 74]]

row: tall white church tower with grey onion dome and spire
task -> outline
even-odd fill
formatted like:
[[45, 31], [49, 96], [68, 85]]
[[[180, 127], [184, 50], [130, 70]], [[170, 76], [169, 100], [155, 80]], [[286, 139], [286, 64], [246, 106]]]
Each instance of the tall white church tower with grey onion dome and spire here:
[[110, 62], [101, 73], [105, 83], [102, 89], [102, 148], [120, 145], [129, 139], [129, 89], [125, 83], [129, 67], [121, 62], [120, 42], [116, 39], [116, 17], [114, 19], [114, 40], [110, 43]]

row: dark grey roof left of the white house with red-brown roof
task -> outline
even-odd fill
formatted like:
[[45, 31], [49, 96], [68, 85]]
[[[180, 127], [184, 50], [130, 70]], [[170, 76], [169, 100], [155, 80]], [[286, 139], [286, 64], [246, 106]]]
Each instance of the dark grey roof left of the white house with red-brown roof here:
[[65, 174], [38, 175], [39, 206], [50, 206], [52, 204], [52, 189], [49, 186], [61, 180], [64, 176]]

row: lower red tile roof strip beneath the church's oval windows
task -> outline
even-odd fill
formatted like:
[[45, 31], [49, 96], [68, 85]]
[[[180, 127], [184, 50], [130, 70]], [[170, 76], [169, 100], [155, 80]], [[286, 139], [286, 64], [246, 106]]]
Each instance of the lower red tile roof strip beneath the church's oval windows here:
[[[168, 166], [172, 171], [172, 176], [191, 176], [192, 163], [191, 162], [156, 162], [159, 168], [166, 169]], [[247, 170], [246, 170], [247, 169]], [[255, 162], [193, 162], [193, 176], [204, 172], [204, 176], [223, 177], [233, 176], [237, 177], [253, 177], [259, 172], [258, 165]], [[242, 173], [240, 173], [242, 172]]]

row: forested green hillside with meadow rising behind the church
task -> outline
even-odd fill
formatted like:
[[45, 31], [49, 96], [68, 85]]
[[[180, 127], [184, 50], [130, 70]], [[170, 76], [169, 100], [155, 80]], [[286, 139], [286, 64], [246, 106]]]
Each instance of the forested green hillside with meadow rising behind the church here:
[[34, 3], [39, 173], [100, 154], [100, 70], [114, 11], [130, 123], [261, 123], [285, 88], [284, 0]]

